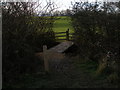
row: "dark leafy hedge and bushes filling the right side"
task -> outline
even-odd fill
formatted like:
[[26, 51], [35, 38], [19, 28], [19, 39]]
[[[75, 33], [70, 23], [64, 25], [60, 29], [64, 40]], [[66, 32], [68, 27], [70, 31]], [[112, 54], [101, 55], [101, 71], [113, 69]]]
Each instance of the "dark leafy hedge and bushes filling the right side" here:
[[107, 71], [110, 81], [120, 74], [120, 2], [73, 5], [72, 25], [75, 43], [84, 60], [99, 64], [98, 73]]

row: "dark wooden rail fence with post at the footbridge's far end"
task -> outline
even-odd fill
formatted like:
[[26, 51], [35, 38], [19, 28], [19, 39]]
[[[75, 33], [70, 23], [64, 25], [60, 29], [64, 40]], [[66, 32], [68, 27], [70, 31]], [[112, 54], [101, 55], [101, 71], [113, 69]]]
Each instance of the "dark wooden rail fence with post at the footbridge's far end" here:
[[70, 33], [69, 29], [66, 32], [55, 32], [55, 39], [72, 41], [74, 39], [74, 33]]

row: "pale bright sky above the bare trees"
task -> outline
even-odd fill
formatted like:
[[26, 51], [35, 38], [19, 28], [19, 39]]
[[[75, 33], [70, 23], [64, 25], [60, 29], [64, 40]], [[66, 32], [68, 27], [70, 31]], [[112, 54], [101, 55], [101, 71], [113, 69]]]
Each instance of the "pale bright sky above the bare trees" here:
[[100, 1], [100, 2], [106, 2], [106, 1], [108, 1], [108, 2], [118, 2], [118, 1], [120, 1], [120, 0], [0, 0], [0, 1], [9, 1], [9, 2], [19, 2], [19, 1], [26, 1], [26, 2], [28, 2], [28, 1], [33, 1], [33, 2], [39, 2], [39, 3], [41, 3], [41, 7], [45, 7], [45, 5], [47, 4], [46, 2], [49, 2], [49, 1], [51, 1], [51, 2], [54, 2], [54, 5], [55, 5], [55, 8], [57, 7], [57, 9], [56, 10], [66, 10], [66, 9], [70, 9], [70, 7], [71, 7], [71, 2], [73, 2], [73, 4], [74, 4], [74, 2], [84, 2], [84, 1], [88, 1], [88, 2], [95, 2], [95, 1]]

